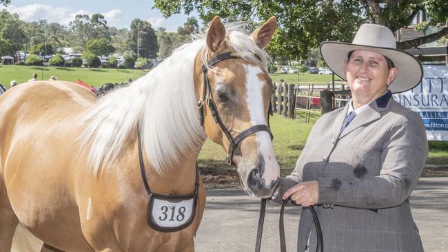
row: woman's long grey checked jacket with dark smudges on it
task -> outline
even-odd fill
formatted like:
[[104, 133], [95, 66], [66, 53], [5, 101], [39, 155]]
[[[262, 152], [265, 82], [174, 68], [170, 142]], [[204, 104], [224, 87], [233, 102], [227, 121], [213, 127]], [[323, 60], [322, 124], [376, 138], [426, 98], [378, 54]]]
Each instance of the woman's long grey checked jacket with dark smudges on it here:
[[[423, 251], [409, 207], [428, 152], [420, 116], [387, 92], [339, 134], [347, 108], [319, 118], [274, 201], [298, 182], [318, 180], [316, 211], [325, 252]], [[311, 212], [304, 209], [298, 251], [305, 250], [308, 238], [309, 251], [315, 251], [312, 226]]]

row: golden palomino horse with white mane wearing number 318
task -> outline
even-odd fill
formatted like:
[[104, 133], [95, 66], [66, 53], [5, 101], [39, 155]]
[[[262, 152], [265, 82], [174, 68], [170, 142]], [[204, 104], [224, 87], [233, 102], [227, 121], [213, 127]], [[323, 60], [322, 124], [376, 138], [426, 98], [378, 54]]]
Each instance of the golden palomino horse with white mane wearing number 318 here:
[[[205, 36], [101, 99], [62, 81], [0, 96], [0, 251], [10, 251], [17, 225], [49, 245], [42, 251], [194, 251], [202, 183], [191, 224], [164, 232], [149, 225], [142, 177], [152, 193], [191, 195], [207, 136], [232, 149], [250, 195], [269, 197], [279, 170], [265, 126], [273, 87], [263, 48], [275, 27], [273, 17], [249, 36], [216, 17]], [[219, 55], [228, 57], [210, 61]], [[183, 219], [185, 208], [172, 212], [164, 219]]]

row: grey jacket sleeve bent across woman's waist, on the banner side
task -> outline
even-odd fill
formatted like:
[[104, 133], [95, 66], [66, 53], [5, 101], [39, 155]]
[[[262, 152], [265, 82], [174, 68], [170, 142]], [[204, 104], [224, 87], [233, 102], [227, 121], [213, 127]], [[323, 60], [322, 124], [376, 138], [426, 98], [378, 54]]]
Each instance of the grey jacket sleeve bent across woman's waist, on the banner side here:
[[428, 153], [425, 127], [418, 114], [399, 118], [387, 133], [378, 176], [318, 178], [318, 204], [380, 209], [403, 204], [416, 187]]

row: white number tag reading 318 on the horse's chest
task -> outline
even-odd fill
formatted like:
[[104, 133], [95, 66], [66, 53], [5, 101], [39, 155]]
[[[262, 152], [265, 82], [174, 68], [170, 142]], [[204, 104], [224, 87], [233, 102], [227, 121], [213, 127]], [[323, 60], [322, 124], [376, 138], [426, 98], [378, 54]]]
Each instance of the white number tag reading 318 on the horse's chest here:
[[184, 200], [168, 200], [153, 198], [150, 215], [151, 221], [161, 229], [181, 229], [183, 225], [190, 224], [194, 217], [196, 198]]

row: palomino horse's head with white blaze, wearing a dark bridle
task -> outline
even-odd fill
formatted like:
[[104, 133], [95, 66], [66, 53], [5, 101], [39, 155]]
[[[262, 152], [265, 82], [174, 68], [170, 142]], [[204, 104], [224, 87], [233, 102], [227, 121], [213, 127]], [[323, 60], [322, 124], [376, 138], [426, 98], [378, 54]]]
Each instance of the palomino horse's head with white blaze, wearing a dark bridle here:
[[196, 57], [194, 71], [207, 136], [228, 152], [245, 191], [261, 198], [272, 195], [279, 177], [267, 127], [273, 85], [263, 51], [275, 28], [272, 17], [247, 36], [241, 31], [226, 31], [215, 17], [206, 34], [207, 47]]

